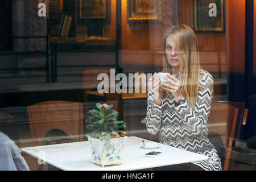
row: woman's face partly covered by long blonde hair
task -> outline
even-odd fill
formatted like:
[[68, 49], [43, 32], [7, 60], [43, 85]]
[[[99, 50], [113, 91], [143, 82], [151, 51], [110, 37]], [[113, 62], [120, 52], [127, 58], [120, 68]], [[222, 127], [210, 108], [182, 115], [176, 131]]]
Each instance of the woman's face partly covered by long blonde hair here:
[[172, 68], [180, 68], [179, 52], [171, 35], [166, 38], [166, 58]]

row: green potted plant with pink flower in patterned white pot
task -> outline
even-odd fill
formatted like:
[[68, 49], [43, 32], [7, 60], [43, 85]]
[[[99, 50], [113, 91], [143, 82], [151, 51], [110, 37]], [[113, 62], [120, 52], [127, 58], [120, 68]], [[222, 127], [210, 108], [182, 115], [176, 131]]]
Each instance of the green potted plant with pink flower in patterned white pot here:
[[113, 105], [96, 104], [97, 109], [86, 119], [86, 136], [92, 148], [92, 162], [102, 167], [113, 164], [122, 164], [123, 149], [127, 137], [123, 130], [126, 125], [118, 121], [118, 112]]

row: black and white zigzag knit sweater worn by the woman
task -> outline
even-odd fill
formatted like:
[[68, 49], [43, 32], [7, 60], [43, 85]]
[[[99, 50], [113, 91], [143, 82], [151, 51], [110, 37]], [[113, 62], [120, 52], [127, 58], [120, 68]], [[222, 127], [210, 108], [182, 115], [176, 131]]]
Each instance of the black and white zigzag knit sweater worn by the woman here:
[[[176, 76], [178, 78], [178, 76]], [[151, 78], [149, 80], [151, 82]], [[210, 143], [207, 120], [212, 102], [213, 77], [201, 70], [199, 96], [196, 109], [192, 110], [187, 100], [175, 106], [174, 96], [162, 97], [162, 105], [154, 103], [154, 94], [148, 89], [146, 126], [150, 134], [159, 133], [159, 142], [198, 154], [207, 155], [207, 160], [192, 162], [209, 170], [221, 170], [221, 160], [216, 148]]]

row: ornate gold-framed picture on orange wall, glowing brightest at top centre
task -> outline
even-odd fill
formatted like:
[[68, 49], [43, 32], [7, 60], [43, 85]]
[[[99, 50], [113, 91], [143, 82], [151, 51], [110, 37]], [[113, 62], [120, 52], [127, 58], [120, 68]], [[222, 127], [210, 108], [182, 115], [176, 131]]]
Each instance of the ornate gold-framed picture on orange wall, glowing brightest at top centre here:
[[162, 22], [163, 3], [163, 0], [127, 0], [127, 22]]

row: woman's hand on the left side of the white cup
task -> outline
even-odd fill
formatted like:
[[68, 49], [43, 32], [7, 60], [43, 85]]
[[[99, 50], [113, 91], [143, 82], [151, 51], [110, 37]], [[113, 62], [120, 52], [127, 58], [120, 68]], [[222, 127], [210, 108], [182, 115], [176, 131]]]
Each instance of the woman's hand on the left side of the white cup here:
[[162, 94], [163, 94], [163, 89], [161, 88], [162, 82], [160, 81], [159, 77], [156, 77], [156, 73], [152, 76], [152, 81], [148, 84], [150, 90], [152, 93], [154, 93], [155, 96], [155, 104], [161, 105], [162, 101]]

